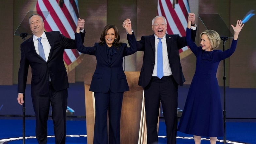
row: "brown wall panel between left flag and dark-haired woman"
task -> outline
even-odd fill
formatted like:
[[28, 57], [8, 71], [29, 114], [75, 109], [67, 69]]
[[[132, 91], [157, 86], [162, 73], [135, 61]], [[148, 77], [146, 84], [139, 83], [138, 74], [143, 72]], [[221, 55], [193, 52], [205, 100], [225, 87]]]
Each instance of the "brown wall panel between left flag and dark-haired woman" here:
[[[107, 0], [78, 1], [80, 18], [85, 19], [84, 46], [94, 46], [100, 41], [100, 36], [107, 20]], [[84, 55], [82, 62], [75, 68], [75, 79], [83, 82], [87, 73], [93, 73], [96, 68], [96, 58]]]

